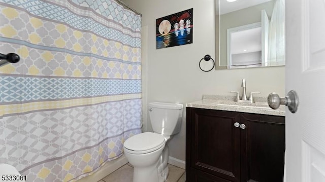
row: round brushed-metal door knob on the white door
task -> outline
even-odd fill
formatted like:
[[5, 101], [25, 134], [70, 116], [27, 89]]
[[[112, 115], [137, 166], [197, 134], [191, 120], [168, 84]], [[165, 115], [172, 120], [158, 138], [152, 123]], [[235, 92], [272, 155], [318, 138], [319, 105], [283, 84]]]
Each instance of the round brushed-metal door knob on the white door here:
[[299, 105], [297, 92], [290, 90], [286, 97], [280, 97], [277, 93], [270, 93], [268, 96], [268, 104], [273, 110], [279, 108], [280, 105], [286, 105], [291, 113], [296, 113]]

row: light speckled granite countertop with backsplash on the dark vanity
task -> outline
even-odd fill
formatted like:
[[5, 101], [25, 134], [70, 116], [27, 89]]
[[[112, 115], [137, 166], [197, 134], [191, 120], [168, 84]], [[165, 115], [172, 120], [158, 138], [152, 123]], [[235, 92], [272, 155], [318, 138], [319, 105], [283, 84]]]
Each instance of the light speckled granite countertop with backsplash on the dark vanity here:
[[203, 95], [202, 100], [186, 103], [186, 107], [207, 108], [210, 110], [235, 111], [273, 116], [285, 116], [285, 106], [277, 110], [268, 106], [267, 98], [254, 97], [255, 103], [235, 102], [235, 96]]

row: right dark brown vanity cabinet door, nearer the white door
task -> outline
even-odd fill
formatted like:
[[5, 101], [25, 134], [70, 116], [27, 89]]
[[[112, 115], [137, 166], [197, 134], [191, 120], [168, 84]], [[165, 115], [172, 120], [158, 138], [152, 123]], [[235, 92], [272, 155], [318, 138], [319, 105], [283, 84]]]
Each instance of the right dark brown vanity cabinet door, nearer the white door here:
[[284, 117], [241, 114], [242, 182], [281, 182], [284, 171]]

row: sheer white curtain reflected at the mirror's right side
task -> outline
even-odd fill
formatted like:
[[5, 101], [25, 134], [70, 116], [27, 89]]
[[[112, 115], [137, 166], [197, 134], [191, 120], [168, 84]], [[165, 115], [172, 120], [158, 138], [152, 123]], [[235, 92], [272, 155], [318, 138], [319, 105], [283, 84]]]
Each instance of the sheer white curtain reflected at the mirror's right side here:
[[269, 31], [269, 65], [281, 65], [285, 59], [285, 4], [276, 0]]

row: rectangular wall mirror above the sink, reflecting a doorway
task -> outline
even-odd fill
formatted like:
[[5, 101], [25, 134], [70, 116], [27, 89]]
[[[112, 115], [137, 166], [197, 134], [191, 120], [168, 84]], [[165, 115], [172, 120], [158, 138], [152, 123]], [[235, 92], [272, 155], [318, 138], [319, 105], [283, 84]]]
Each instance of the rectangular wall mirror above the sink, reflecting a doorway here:
[[215, 0], [216, 69], [285, 65], [285, 0]]

